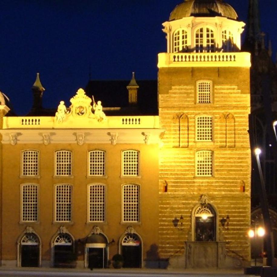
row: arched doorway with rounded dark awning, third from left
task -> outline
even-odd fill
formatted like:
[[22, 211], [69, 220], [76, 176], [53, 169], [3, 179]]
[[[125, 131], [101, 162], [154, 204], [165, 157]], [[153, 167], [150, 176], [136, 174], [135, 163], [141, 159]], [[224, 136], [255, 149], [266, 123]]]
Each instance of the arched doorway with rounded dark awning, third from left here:
[[106, 268], [108, 264], [108, 240], [99, 227], [94, 227], [86, 239], [85, 267]]

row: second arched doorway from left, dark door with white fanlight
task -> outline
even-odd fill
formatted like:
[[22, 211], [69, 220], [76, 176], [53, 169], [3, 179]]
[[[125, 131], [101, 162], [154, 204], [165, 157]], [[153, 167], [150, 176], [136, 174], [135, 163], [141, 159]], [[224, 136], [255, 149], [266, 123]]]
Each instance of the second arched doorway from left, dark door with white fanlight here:
[[68, 233], [60, 233], [54, 239], [53, 266], [71, 267], [74, 262], [73, 239]]

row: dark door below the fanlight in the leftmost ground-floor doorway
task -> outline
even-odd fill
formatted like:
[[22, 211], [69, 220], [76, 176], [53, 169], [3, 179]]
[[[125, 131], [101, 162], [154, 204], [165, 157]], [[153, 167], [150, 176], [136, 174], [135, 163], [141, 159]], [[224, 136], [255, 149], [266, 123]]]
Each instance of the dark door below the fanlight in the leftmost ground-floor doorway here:
[[21, 245], [21, 266], [38, 267], [39, 266], [39, 246]]

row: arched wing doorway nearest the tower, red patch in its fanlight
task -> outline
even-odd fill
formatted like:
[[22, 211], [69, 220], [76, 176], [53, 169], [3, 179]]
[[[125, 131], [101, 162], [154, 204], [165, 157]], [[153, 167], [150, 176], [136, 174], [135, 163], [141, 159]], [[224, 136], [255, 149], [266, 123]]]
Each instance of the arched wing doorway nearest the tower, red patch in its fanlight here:
[[142, 261], [142, 241], [132, 227], [128, 227], [121, 240], [123, 267], [140, 268]]

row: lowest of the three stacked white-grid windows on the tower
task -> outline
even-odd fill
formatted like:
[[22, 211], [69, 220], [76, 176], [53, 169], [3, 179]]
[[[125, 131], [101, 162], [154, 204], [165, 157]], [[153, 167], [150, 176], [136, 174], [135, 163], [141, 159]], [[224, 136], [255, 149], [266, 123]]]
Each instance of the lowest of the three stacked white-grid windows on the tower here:
[[209, 150], [196, 152], [196, 176], [212, 176], [213, 154]]

